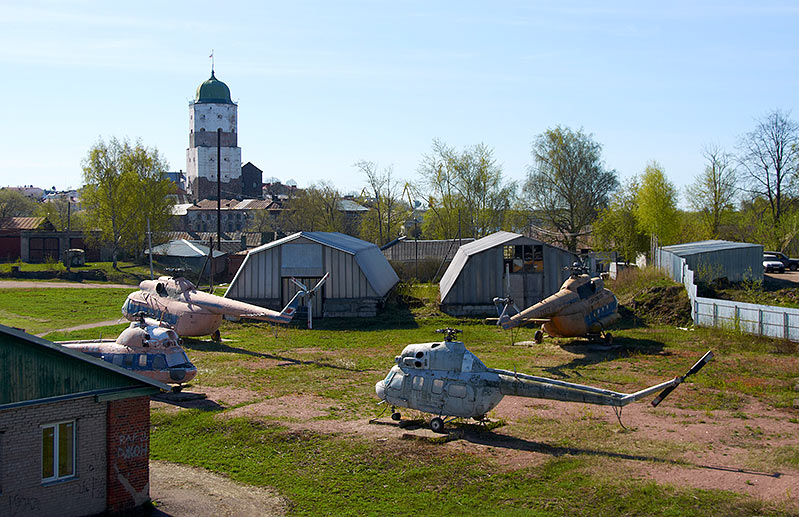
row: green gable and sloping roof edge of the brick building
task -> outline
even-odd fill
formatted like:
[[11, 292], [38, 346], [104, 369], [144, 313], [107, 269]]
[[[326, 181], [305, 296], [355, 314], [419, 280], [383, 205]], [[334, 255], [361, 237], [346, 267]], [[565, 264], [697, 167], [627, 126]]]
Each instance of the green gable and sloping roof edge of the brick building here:
[[0, 325], [0, 410], [53, 400], [157, 393], [168, 386], [138, 373]]

